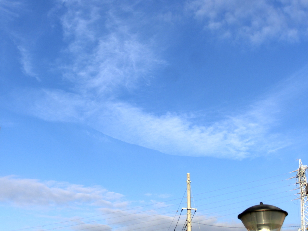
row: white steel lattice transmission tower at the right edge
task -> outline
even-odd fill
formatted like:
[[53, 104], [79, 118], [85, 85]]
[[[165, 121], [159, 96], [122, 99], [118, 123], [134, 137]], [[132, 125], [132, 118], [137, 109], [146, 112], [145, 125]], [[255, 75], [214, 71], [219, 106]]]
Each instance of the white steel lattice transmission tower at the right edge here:
[[299, 160], [299, 168], [294, 171], [297, 172], [296, 184], [299, 184], [298, 189], [300, 190], [300, 192], [298, 193], [300, 197], [298, 199], [301, 200], [301, 231], [308, 230], [308, 184], [306, 178], [307, 168], [307, 165], [303, 165], [302, 160]]

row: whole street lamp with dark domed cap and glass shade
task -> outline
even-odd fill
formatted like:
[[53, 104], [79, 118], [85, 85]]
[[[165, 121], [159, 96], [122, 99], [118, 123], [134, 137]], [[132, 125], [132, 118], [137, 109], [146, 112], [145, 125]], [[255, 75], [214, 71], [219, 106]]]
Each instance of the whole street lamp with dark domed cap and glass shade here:
[[273, 205], [254, 205], [237, 216], [248, 231], [279, 231], [288, 213]]

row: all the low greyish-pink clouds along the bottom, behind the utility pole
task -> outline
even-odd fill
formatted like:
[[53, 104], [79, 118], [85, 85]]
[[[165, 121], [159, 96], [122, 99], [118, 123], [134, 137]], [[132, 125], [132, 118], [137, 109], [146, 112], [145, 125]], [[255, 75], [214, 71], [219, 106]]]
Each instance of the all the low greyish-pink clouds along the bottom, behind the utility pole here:
[[[174, 229], [179, 218], [178, 213], [176, 213], [176, 216], [173, 215], [178, 205], [170, 207], [170, 204], [168, 204], [168, 209], [166, 210], [168, 212], [165, 212], [164, 209], [157, 210], [166, 206], [163, 202], [153, 207], [137, 206], [133, 208], [132, 205], [128, 206], [129, 203], [123, 204], [125, 202], [123, 201], [123, 195], [110, 192], [102, 186], [88, 187], [52, 180], [41, 182], [40, 180], [18, 178], [16, 176], [2, 176], [0, 177], [0, 184], [2, 185], [0, 189], [0, 204], [2, 206], [11, 204], [28, 211], [35, 211], [40, 207], [46, 209], [61, 206], [66, 210], [66, 216], [71, 216], [48, 216], [49, 220], [45, 224], [43, 223], [43, 217], [41, 217], [41, 223], [37, 225], [42, 227], [35, 225], [36, 227], [34, 228], [40, 227], [43, 230], [70, 227], [70, 229], [76, 231], [103, 231], [115, 228], [121, 228], [124, 231], [139, 229], [152, 231], [153, 227], [155, 229], [168, 229], [169, 227]], [[119, 201], [122, 201], [122, 206], [119, 206], [121, 204]], [[153, 204], [154, 201], [151, 203]], [[71, 207], [71, 210], [67, 210], [65, 207]], [[92, 216], [83, 218], [80, 215], [78, 216], [78, 214], [83, 214], [82, 210], [92, 211], [92, 214], [93, 212], [95, 213]], [[195, 218], [195, 222], [198, 220], [209, 225], [242, 227], [240, 223], [217, 223], [215, 217], [199, 215], [198, 219], [197, 216]], [[185, 216], [180, 219], [179, 227], [184, 225], [185, 219]], [[194, 225], [197, 225], [197, 223]], [[26, 229], [30, 229], [29, 226], [26, 226]], [[201, 230], [216, 231], [220, 230], [220, 227], [203, 225]]]

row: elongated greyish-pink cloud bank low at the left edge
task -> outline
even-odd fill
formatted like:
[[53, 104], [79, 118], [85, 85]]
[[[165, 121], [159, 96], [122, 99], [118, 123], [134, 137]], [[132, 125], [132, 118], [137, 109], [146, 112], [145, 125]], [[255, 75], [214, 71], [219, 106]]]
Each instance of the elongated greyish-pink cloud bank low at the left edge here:
[[40, 182], [13, 176], [0, 177], [0, 201], [17, 206], [87, 204], [113, 207], [123, 195], [100, 186], [85, 187], [67, 182]]

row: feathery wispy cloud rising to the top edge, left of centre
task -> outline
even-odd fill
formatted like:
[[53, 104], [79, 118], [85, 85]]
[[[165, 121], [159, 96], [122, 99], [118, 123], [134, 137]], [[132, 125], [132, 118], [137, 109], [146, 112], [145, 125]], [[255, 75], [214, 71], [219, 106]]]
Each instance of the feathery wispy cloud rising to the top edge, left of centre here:
[[63, 73], [79, 91], [99, 96], [114, 94], [119, 87], [134, 88], [140, 80], [148, 82], [154, 67], [163, 63], [151, 49], [152, 40], [141, 42], [109, 1], [64, 5], [62, 25], [70, 40], [66, 52], [73, 59], [62, 65]]

